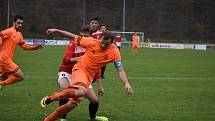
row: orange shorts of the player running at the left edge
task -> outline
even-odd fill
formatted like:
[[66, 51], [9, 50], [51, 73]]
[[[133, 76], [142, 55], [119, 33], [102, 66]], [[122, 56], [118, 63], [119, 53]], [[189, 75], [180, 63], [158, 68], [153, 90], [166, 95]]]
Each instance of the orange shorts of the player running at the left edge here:
[[14, 74], [19, 67], [12, 60], [0, 60], [0, 76]]

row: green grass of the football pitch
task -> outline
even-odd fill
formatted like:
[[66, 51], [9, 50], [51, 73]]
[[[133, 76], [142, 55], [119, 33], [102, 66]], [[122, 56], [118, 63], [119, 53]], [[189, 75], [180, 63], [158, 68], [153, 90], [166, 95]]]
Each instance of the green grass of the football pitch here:
[[[64, 46], [46, 46], [35, 52], [18, 48], [15, 62], [25, 80], [4, 88], [0, 96], [0, 121], [41, 121], [57, 102], [44, 111], [40, 99], [58, 90], [57, 70]], [[110, 121], [214, 121], [214, 51], [139, 49], [133, 56], [122, 48], [124, 69], [134, 94], [127, 96], [109, 64], [103, 81], [98, 115]], [[96, 84], [94, 84], [96, 88]], [[88, 121], [88, 100], [69, 113], [69, 120]]]

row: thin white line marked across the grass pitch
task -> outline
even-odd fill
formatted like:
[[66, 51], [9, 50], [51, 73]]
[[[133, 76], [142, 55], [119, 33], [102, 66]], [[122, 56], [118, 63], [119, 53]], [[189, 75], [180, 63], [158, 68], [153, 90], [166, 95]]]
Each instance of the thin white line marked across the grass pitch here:
[[[26, 78], [39, 78], [39, 79], [57, 79], [57, 76], [26, 76]], [[119, 78], [109, 78], [109, 79], [119, 79]], [[215, 79], [215, 78], [205, 78], [205, 77], [128, 77], [128, 79], [142, 79], [142, 80], [203, 80], [203, 79]], [[108, 80], [108, 78], [107, 78]]]

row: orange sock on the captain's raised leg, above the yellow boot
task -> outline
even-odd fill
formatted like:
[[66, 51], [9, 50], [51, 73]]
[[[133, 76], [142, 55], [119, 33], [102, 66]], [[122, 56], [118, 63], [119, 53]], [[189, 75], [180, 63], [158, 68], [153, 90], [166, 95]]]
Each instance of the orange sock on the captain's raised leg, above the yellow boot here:
[[74, 88], [68, 88], [65, 89], [61, 92], [56, 92], [53, 95], [49, 96], [49, 98], [54, 101], [54, 100], [63, 100], [63, 99], [67, 99], [67, 98], [73, 98], [76, 97], [76, 89]]

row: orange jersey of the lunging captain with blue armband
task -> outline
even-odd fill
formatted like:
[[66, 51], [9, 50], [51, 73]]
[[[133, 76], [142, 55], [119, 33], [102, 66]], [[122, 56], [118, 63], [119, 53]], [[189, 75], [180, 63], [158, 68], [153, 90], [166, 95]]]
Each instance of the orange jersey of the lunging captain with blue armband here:
[[[91, 37], [82, 37], [80, 40], [80, 46], [86, 51], [76, 65], [85, 70], [86, 75], [90, 78], [95, 77], [95, 74], [107, 63], [121, 60], [119, 50], [114, 44], [111, 44], [105, 51], [101, 49], [100, 44], [100, 40]], [[90, 79], [90, 81], [92, 80]]]

